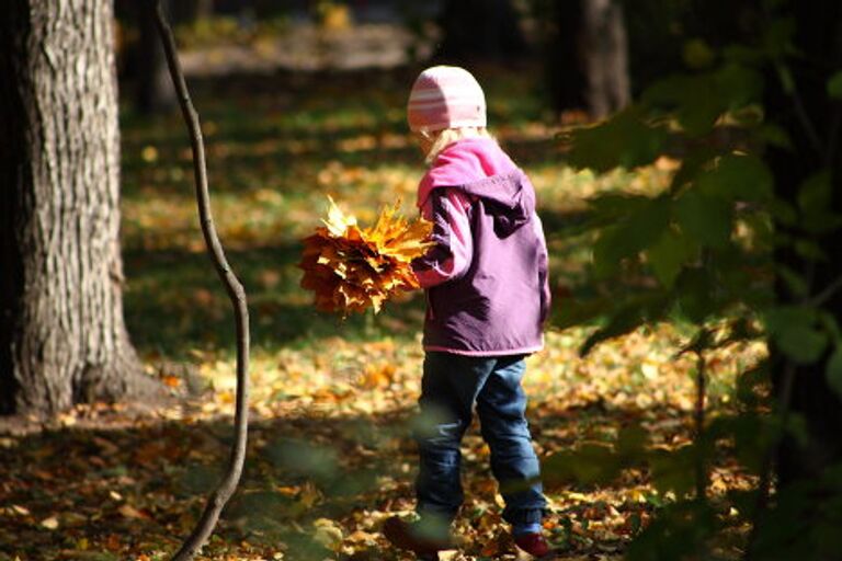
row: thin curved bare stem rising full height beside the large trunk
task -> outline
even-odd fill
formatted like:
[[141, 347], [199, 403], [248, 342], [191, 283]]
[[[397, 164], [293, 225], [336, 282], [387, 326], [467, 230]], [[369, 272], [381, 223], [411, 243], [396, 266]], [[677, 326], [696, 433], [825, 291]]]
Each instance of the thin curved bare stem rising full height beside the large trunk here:
[[167, 66], [170, 69], [170, 77], [175, 87], [181, 113], [184, 116], [184, 123], [190, 133], [191, 147], [193, 149], [193, 172], [196, 183], [196, 204], [198, 206], [198, 216], [202, 222], [202, 233], [205, 237], [205, 245], [214, 262], [219, 279], [225, 285], [228, 297], [231, 300], [237, 323], [237, 398], [234, 421], [235, 442], [225, 477], [208, 497], [205, 511], [202, 513], [202, 517], [196, 524], [196, 527], [181, 546], [181, 549], [179, 549], [172, 558], [173, 561], [186, 561], [193, 559], [205, 542], [207, 542], [210, 534], [213, 534], [223, 507], [237, 489], [237, 483], [240, 480], [242, 466], [246, 460], [246, 442], [249, 431], [249, 310], [246, 302], [246, 290], [231, 271], [230, 265], [228, 265], [223, 245], [219, 242], [219, 237], [214, 227], [214, 218], [210, 213], [210, 195], [207, 188], [207, 168], [205, 165], [205, 146], [202, 139], [202, 128], [198, 123], [198, 114], [193, 108], [193, 102], [190, 99], [187, 84], [184, 81], [184, 72], [181, 70], [181, 64], [179, 62], [178, 51], [175, 49], [175, 39], [172, 36], [172, 28], [167, 23], [163, 15], [161, 1], [152, 1], [155, 2], [155, 22], [163, 43]]

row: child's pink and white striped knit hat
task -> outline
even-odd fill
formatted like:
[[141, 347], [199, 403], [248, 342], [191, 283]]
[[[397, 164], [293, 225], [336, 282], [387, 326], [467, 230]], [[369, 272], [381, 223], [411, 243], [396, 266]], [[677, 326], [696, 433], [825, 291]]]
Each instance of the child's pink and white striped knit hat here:
[[412, 131], [486, 126], [486, 95], [464, 68], [434, 66], [421, 72], [407, 105]]

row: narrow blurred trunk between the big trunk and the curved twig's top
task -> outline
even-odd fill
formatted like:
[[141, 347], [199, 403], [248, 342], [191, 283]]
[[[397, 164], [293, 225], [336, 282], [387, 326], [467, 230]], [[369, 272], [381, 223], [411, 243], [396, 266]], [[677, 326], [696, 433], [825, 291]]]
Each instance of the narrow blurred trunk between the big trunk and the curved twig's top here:
[[[213, 8], [213, 2], [207, 0]], [[172, 110], [177, 105], [175, 90], [172, 88], [161, 42], [155, 28], [152, 2], [137, 2], [138, 41], [135, 48], [135, 107], [144, 114]], [[163, 8], [169, 8], [164, 0]], [[201, 11], [196, 7], [196, 13]]]

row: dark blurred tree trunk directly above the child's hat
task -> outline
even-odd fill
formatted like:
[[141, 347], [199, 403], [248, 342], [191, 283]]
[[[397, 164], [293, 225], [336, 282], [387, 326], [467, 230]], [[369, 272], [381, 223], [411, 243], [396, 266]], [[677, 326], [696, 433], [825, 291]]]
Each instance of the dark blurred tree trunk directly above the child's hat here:
[[504, 60], [526, 51], [520, 15], [511, 0], [447, 0], [439, 19], [443, 61]]

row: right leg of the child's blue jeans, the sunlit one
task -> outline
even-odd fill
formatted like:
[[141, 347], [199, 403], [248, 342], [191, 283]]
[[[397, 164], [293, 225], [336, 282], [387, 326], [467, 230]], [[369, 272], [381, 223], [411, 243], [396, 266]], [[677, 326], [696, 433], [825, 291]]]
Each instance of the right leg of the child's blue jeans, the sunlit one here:
[[538, 524], [547, 505], [525, 416], [524, 369], [522, 357], [499, 358], [477, 396], [482, 437], [491, 449], [491, 470], [505, 500], [503, 518], [515, 527]]

